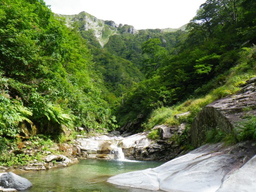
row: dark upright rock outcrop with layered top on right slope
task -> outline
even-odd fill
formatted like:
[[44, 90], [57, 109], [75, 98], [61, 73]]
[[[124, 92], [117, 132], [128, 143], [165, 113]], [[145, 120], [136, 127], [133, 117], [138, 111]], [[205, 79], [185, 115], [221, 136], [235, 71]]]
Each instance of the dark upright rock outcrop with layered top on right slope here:
[[195, 117], [191, 129], [191, 142], [199, 146], [210, 129], [219, 128], [230, 133], [245, 115], [256, 115], [256, 78], [249, 80], [242, 90], [218, 99], [205, 107]]

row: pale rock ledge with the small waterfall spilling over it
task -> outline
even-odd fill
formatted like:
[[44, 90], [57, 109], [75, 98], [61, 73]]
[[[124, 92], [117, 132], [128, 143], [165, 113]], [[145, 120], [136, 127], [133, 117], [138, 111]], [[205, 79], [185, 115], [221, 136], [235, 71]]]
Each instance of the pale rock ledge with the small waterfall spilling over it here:
[[94, 136], [77, 138], [75, 146], [80, 156], [95, 159], [166, 160], [179, 153], [179, 147], [164, 140], [157, 142], [147, 138], [147, 133], [122, 136]]

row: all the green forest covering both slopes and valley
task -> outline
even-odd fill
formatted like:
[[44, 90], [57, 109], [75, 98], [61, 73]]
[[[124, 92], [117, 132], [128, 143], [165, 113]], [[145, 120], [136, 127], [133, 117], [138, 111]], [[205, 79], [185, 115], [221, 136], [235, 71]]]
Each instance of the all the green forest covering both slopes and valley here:
[[206, 0], [185, 30], [125, 26], [104, 47], [72, 23], [43, 0], [0, 0], [0, 140], [27, 136], [23, 126], [52, 138], [63, 126], [121, 130], [138, 115], [131, 132], [186, 111], [189, 123], [256, 74], [255, 0]]

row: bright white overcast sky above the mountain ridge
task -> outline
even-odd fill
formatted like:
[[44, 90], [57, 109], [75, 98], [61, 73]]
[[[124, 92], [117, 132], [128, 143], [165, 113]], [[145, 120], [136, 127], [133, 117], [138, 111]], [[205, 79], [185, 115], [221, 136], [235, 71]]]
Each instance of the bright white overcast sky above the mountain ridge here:
[[129, 24], [135, 29], [178, 28], [206, 0], [44, 0], [54, 13], [85, 11], [99, 19]]

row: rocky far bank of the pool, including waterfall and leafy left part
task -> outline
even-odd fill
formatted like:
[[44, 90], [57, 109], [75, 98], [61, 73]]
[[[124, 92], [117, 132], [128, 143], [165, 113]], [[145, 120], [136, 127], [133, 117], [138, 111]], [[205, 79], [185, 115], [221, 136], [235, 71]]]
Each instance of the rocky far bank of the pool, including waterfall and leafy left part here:
[[147, 132], [127, 137], [113, 134], [77, 135], [76, 139], [66, 143], [48, 140], [41, 141], [41, 145], [38, 140], [24, 140], [18, 143], [19, 148], [9, 149], [10, 157], [11, 154], [15, 155], [14, 163], [11, 166], [0, 166], [0, 171], [46, 170], [65, 167], [86, 158], [166, 160], [167, 156], [170, 158], [174, 155], [168, 152], [171, 142], [160, 138], [155, 141], [147, 135]]

